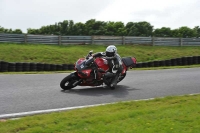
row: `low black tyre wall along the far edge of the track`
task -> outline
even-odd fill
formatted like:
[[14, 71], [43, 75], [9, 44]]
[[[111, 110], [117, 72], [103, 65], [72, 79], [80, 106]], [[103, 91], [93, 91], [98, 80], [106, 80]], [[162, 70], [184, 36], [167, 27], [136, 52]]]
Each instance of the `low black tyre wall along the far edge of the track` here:
[[[200, 56], [174, 58], [169, 60], [138, 62], [135, 68], [185, 66], [200, 64]], [[66, 71], [74, 70], [74, 64], [46, 64], [46, 63], [21, 63], [0, 61], [0, 72], [24, 72], [24, 71]]]

